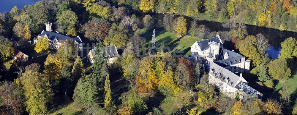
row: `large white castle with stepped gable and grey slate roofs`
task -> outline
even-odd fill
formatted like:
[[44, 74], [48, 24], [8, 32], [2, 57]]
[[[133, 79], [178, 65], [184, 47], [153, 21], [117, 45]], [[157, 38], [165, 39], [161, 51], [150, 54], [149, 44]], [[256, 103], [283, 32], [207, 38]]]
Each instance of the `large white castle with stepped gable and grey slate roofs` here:
[[256, 94], [262, 99], [263, 94], [250, 87], [242, 77], [242, 73], [249, 72], [251, 60], [223, 48], [219, 35], [200, 42], [196, 41], [191, 46], [189, 58], [198, 62], [206, 62], [209, 66], [209, 83], [230, 98], [234, 98], [238, 93], [240, 98], [243, 98], [245, 94]]

